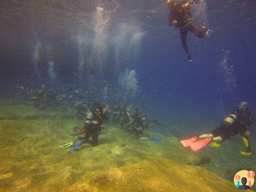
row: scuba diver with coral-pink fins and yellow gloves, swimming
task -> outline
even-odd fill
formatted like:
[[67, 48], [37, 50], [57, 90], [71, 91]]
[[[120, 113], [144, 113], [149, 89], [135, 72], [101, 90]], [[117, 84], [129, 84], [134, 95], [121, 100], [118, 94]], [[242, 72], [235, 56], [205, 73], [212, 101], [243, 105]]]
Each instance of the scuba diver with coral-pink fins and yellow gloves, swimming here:
[[211, 141], [213, 141], [209, 144], [211, 147], [219, 148], [223, 141], [240, 133], [246, 147], [246, 151], [240, 153], [244, 156], [252, 155], [254, 152], [251, 150], [249, 131], [254, 118], [247, 105], [247, 102], [241, 102], [237, 110], [233, 111], [212, 133], [182, 140], [181, 143], [184, 147], [190, 146], [193, 151], [202, 149]]

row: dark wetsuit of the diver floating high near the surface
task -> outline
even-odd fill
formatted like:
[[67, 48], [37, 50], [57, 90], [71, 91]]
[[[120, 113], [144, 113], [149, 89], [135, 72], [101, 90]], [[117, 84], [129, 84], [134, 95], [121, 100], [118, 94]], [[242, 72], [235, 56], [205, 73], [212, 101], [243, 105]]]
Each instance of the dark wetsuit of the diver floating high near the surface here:
[[182, 8], [182, 5], [187, 1], [183, 0], [180, 3], [172, 3], [169, 6], [169, 26], [172, 26], [171, 22], [176, 20], [177, 25], [180, 29], [182, 46], [186, 53], [189, 54], [189, 60], [191, 59], [190, 51], [187, 46], [187, 33], [190, 31], [195, 33], [198, 38], [204, 38], [205, 31], [199, 30], [195, 24], [193, 23], [192, 12], [190, 10], [190, 6], [188, 8]]

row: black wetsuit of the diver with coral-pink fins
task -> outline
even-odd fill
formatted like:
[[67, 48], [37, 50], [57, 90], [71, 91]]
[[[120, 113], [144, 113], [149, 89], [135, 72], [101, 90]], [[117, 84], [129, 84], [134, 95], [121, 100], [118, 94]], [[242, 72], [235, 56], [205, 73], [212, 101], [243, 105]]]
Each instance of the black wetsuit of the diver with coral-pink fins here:
[[[235, 115], [237, 118], [234, 119], [232, 115]], [[234, 123], [230, 125], [227, 121], [223, 121], [221, 125], [212, 132], [213, 136], [220, 136], [224, 141], [238, 133], [241, 133], [242, 136], [246, 137], [248, 140], [248, 137], [244, 135], [244, 132], [249, 131], [249, 127], [254, 121], [251, 112], [249, 110], [246, 110], [246, 112], [237, 110], [232, 112], [229, 117], [234, 120]]]

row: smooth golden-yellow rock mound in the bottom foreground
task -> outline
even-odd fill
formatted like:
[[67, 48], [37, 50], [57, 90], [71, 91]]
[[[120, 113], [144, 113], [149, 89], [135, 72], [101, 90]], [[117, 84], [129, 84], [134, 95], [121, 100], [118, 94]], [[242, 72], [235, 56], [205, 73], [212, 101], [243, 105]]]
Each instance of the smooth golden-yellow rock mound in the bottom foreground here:
[[[198, 190], [197, 190], [198, 189]], [[239, 192], [207, 169], [154, 158], [98, 173], [62, 192]]]

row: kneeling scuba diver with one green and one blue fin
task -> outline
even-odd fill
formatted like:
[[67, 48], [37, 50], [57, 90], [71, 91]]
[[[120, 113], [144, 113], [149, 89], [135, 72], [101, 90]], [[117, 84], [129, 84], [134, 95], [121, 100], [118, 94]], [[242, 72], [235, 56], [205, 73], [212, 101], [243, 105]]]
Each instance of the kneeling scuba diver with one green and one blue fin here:
[[[81, 140], [76, 146], [74, 146], [69, 152], [75, 151], [81, 144], [89, 143], [93, 146], [98, 145], [98, 132], [101, 131], [104, 120], [109, 120], [107, 105], [104, 109], [100, 106], [99, 102], [94, 102], [93, 107], [90, 111], [87, 112], [85, 118], [84, 128], [79, 129], [78, 127], [74, 128], [74, 133], [72, 135], [77, 136], [81, 134], [85, 134], [85, 137], [75, 137], [67, 144], [62, 144], [59, 146], [61, 149], [68, 148], [72, 146], [76, 141]], [[92, 137], [92, 141], [89, 141], [89, 138]]]

